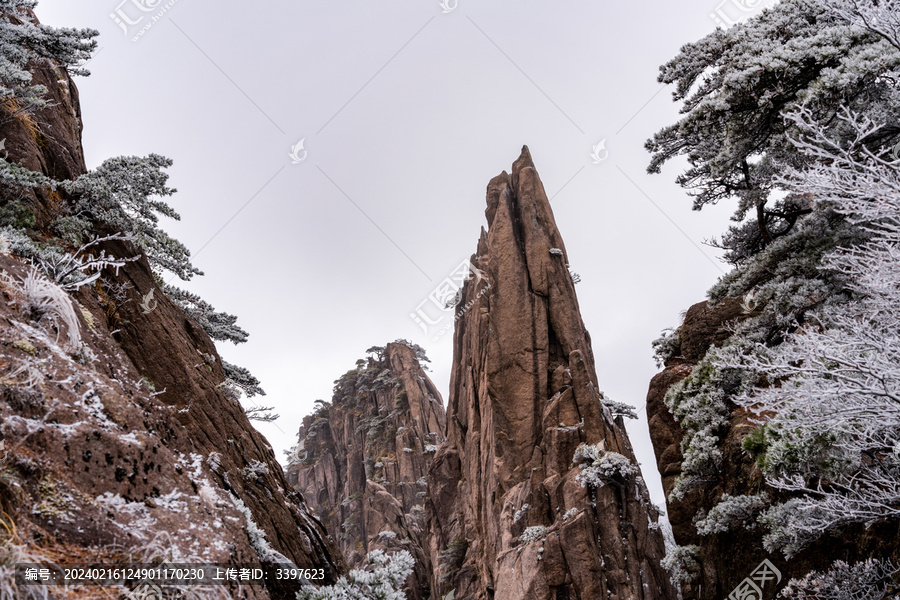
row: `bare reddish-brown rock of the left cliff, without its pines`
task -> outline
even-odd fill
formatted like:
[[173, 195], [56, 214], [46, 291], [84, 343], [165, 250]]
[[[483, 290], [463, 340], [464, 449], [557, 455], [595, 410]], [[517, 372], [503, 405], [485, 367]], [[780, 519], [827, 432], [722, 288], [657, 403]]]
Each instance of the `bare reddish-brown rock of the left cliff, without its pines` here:
[[[77, 89], [53, 65], [36, 67], [34, 83], [47, 87], [47, 108], [0, 109], [8, 160], [77, 177]], [[31, 235], [52, 242], [48, 221], [69, 201], [49, 187], [4, 189], [0, 208], [25, 207]], [[122, 241], [104, 250], [138, 254]], [[270, 445], [223, 393], [213, 342], [165, 297], [145, 258], [71, 295], [8, 240], [0, 252], [0, 577], [21, 560], [289, 560], [323, 569], [326, 581], [345, 570]], [[242, 597], [288, 598], [293, 587], [244, 586]]]

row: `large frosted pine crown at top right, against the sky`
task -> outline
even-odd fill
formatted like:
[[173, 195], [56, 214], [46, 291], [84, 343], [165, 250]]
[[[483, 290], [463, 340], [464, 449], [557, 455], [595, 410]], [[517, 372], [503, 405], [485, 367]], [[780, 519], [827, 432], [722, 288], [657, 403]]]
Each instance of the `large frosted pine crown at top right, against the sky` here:
[[[734, 220], [750, 218], [719, 242], [735, 264], [787, 234], [810, 211], [802, 198], [778, 193], [781, 169], [805, 160], [790, 141], [796, 130], [785, 115], [807, 105], [817, 122], [827, 124], [841, 106], [874, 117], [894, 114], [898, 104], [889, 75], [900, 67], [900, 50], [850, 14], [859, 1], [831, 4], [845, 10], [783, 0], [685, 45], [660, 68], [659, 81], [675, 84], [684, 116], [647, 142], [653, 153], [648, 171], [658, 173], [664, 163], [686, 156], [690, 166], [677, 181], [694, 197], [696, 210], [737, 199]], [[876, 6], [885, 4], [892, 3]], [[892, 143], [900, 139], [900, 129], [880, 133]]]

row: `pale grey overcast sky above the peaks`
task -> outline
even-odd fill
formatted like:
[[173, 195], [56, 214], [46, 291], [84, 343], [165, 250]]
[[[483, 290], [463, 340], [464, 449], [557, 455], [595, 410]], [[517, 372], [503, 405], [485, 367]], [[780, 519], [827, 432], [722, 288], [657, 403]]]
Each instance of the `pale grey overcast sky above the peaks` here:
[[434, 341], [410, 313], [475, 250], [485, 187], [527, 144], [582, 277], [601, 388], [641, 409], [628, 431], [662, 503], [650, 343], [721, 276], [702, 242], [734, 206], [692, 212], [674, 183], [684, 164], [647, 175], [643, 144], [677, 117], [659, 65], [735, 7], [445, 2], [41, 0], [37, 13], [101, 32], [77, 81], [88, 166], [175, 161], [182, 220], [166, 227], [206, 273], [183, 287], [250, 332], [220, 352], [282, 415], [259, 426], [280, 458], [369, 346], [422, 345], [446, 402], [452, 336]]

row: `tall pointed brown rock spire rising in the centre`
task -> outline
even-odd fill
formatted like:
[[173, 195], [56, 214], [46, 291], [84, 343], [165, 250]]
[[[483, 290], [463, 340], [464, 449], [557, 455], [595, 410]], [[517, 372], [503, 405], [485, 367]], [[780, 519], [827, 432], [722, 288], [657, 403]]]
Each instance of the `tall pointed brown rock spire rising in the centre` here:
[[486, 215], [458, 304], [447, 440], [428, 474], [433, 597], [674, 598], [527, 148], [488, 185]]

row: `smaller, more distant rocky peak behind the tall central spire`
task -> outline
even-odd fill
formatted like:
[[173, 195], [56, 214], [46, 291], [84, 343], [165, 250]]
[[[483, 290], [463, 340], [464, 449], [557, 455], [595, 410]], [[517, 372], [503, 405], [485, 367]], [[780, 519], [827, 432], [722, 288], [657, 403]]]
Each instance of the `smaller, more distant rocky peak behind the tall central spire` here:
[[287, 471], [351, 566], [375, 549], [412, 554], [411, 600], [431, 597], [426, 473], [446, 426], [416, 349], [403, 342], [372, 348], [374, 356], [338, 379], [331, 403], [303, 419]]

